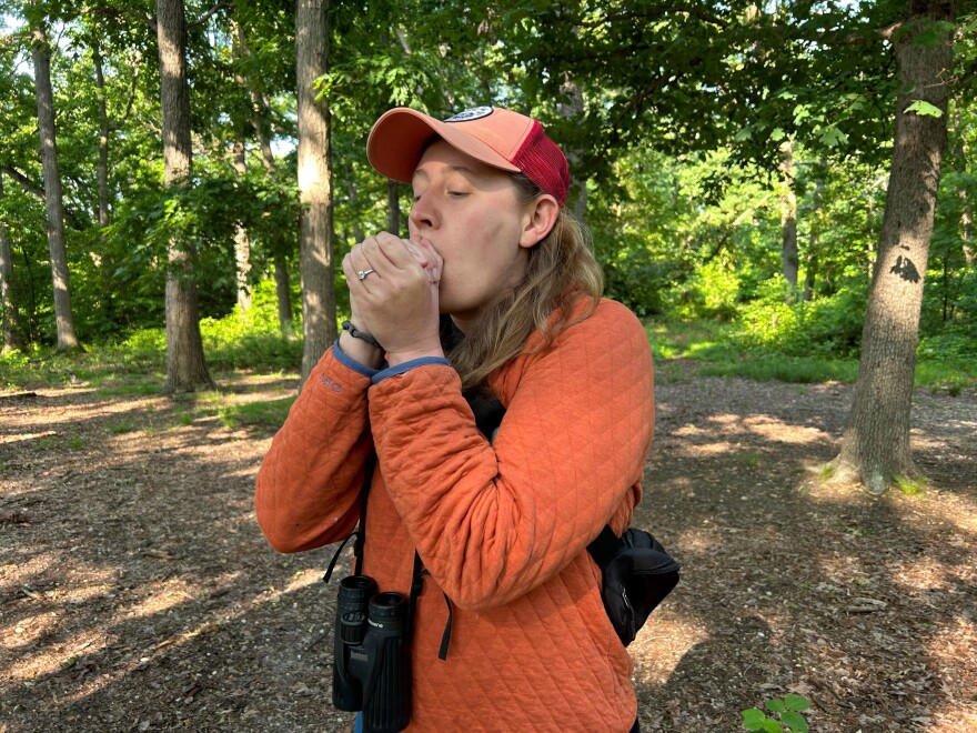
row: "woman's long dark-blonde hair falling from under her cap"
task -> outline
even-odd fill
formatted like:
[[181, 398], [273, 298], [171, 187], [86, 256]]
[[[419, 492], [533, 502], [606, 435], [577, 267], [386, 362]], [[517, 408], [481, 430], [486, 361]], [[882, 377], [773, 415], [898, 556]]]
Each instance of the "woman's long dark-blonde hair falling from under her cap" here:
[[[521, 203], [541, 195], [524, 175], [512, 178]], [[534, 353], [545, 351], [564, 330], [594, 312], [604, 292], [604, 275], [588, 243], [586, 225], [561, 207], [553, 229], [530, 249], [522, 281], [488, 304], [464, 340], [450, 349], [447, 358], [463, 390], [484, 388], [488, 375], [515, 359], [534, 331], [543, 339]], [[574, 305], [582, 299], [591, 302], [574, 317]]]

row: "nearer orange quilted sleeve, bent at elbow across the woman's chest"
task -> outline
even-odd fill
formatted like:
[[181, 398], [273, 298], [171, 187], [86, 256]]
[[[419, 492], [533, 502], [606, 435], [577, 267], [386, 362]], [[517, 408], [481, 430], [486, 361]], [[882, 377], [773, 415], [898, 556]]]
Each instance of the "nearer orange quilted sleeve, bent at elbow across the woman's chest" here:
[[462, 608], [507, 603], [583, 552], [629, 492], [639, 496], [652, 441], [647, 337], [612, 301], [551, 350], [521, 355], [494, 386], [510, 399], [491, 445], [447, 366], [384, 380], [370, 395], [394, 505]]

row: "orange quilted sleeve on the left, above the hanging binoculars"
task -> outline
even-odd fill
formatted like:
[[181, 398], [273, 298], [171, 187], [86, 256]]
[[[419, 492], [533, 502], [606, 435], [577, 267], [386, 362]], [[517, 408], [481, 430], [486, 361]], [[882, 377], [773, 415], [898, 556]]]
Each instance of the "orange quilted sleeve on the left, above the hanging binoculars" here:
[[269, 543], [300, 552], [344, 539], [360, 516], [372, 450], [370, 376], [331, 348], [313, 369], [258, 471], [254, 511]]

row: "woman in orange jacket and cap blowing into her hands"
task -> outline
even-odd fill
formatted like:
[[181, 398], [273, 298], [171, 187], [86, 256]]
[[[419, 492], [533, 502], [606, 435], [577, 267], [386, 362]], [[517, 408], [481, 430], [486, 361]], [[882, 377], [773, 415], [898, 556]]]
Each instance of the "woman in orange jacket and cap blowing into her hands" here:
[[[652, 360], [638, 320], [601, 299], [566, 159], [490, 107], [391, 110], [366, 151], [413, 187], [410, 241], [380, 233], [343, 260], [351, 322], [261, 466], [261, 528], [281, 552], [345, 539], [375, 451], [363, 572], [404, 594], [415, 552], [430, 573], [409, 730], [636, 730], [586, 546], [641, 499]], [[465, 399], [480, 392], [505, 408], [491, 441]]]

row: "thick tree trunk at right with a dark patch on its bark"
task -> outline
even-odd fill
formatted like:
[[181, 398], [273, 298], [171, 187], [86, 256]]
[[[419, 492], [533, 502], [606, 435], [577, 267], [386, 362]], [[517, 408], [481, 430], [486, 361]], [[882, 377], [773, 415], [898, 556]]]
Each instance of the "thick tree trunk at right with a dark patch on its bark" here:
[[[953, 21], [940, 0], [910, 0], [895, 41], [899, 87], [886, 207], [873, 272], [862, 360], [833, 480], [883, 493], [898, 476], [914, 476], [909, 416], [923, 281], [933, 238], [936, 194], [947, 133], [951, 33], [936, 44], [914, 43], [920, 32]], [[945, 31], [939, 31], [945, 33]], [[907, 111], [917, 100], [939, 117]]]

